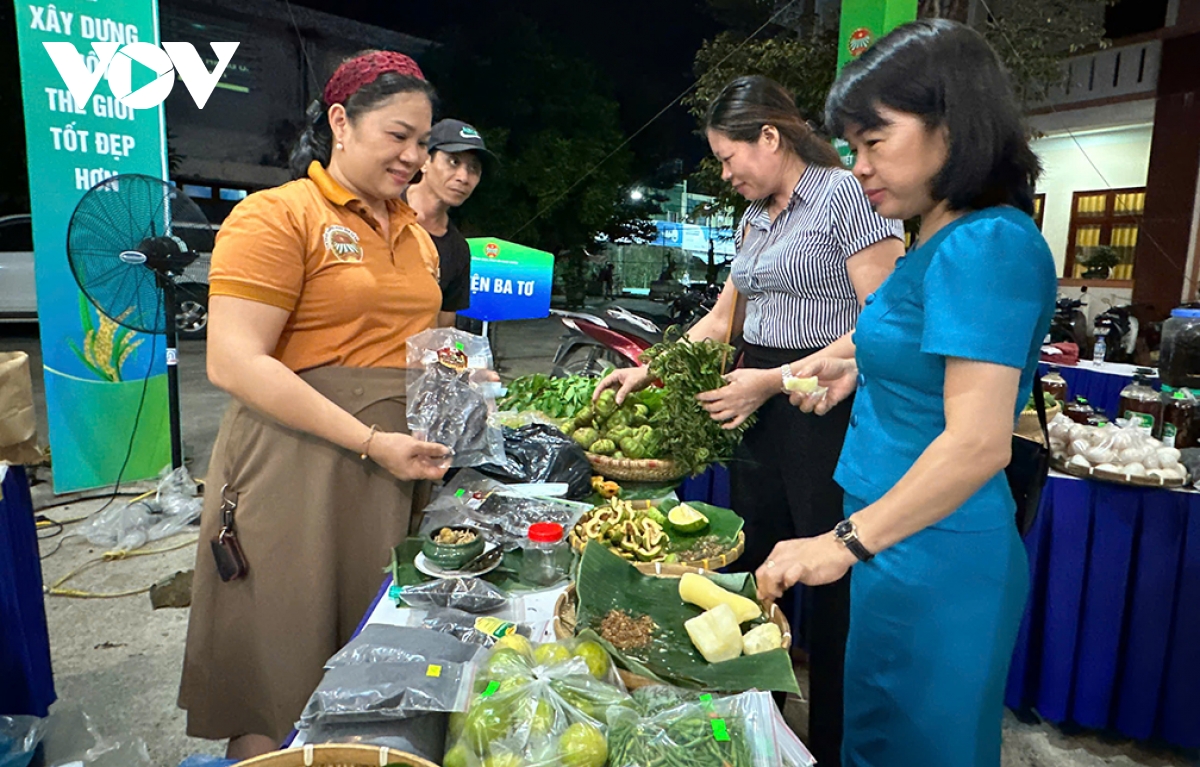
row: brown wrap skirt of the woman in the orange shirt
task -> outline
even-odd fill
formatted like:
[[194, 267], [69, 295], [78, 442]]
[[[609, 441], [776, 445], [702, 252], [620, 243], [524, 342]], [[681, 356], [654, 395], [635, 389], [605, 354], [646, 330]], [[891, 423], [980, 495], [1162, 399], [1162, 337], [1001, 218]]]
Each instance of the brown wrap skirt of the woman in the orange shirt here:
[[[300, 377], [383, 431], [407, 432], [404, 371], [323, 367]], [[246, 577], [222, 582], [210, 540], [221, 490], [238, 495]], [[179, 705], [187, 733], [282, 741], [324, 663], [379, 591], [408, 534], [413, 483], [372, 461], [234, 402], [205, 481]]]

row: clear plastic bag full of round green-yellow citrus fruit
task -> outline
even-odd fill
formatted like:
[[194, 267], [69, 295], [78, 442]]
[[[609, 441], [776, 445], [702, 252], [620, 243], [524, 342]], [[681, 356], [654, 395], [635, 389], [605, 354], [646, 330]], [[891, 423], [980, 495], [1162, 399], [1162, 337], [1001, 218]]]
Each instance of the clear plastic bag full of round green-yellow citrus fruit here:
[[602, 767], [608, 718], [634, 708], [606, 681], [616, 678], [608, 657], [589, 645], [498, 647], [476, 676], [470, 707], [450, 717], [444, 767]]

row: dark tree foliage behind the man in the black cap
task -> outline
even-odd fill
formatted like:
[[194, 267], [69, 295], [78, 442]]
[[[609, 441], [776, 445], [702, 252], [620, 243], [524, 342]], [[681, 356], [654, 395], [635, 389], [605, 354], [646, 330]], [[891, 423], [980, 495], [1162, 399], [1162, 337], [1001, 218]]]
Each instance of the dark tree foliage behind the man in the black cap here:
[[652, 236], [653, 202], [629, 199], [632, 155], [618, 104], [589, 61], [509, 14], [455, 30], [428, 70], [442, 84], [439, 112], [478, 127], [500, 156], [456, 214], [468, 236], [554, 254], [581, 252], [599, 235]]

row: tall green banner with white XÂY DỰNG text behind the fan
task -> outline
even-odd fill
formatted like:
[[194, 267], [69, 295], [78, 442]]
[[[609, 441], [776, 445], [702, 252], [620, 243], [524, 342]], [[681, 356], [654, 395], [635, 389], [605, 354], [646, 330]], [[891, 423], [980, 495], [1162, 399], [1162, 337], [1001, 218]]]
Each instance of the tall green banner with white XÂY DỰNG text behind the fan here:
[[158, 44], [158, 7], [16, 0], [16, 10], [54, 490], [110, 485], [118, 474], [151, 478], [170, 463], [164, 338], [96, 311], [78, 289], [66, 239], [96, 184], [125, 173], [167, 176], [163, 109], [145, 106], [163, 88], [163, 72], [144, 64], [145, 49]]

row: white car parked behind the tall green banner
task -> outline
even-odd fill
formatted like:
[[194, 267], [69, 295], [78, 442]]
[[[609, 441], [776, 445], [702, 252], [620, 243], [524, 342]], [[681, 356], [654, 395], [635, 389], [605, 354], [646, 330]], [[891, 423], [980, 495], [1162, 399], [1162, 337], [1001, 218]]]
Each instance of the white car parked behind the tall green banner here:
[[[188, 270], [184, 270], [185, 280]], [[180, 338], [203, 338], [209, 328], [206, 275], [179, 286], [175, 326]], [[34, 280], [34, 224], [29, 214], [0, 216], [0, 322], [37, 319]]]

